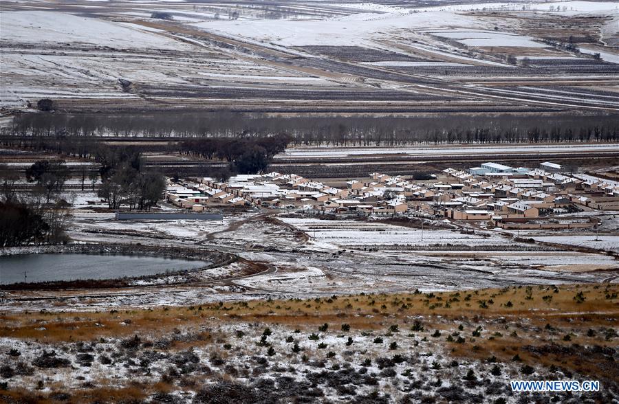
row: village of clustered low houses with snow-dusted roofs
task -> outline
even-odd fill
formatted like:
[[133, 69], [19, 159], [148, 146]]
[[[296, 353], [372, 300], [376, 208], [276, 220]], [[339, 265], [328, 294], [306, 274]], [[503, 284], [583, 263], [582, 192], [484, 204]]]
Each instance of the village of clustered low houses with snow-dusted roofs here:
[[488, 162], [406, 179], [373, 172], [367, 179], [315, 181], [290, 174], [237, 175], [169, 181], [165, 199], [193, 212], [228, 207], [301, 209], [325, 214], [420, 216], [485, 221], [505, 229], [594, 228], [591, 214], [619, 210], [619, 181], [567, 172], [560, 164], [512, 168]]

